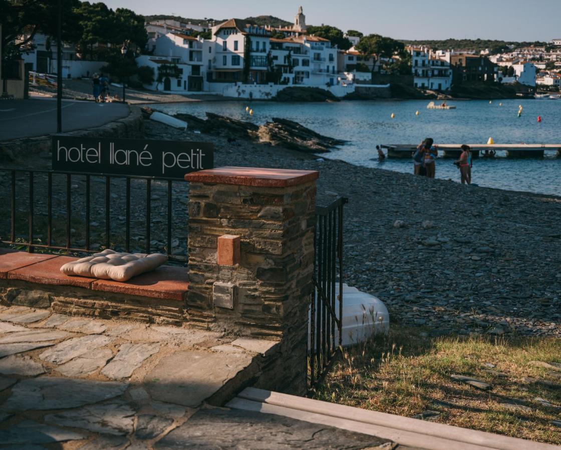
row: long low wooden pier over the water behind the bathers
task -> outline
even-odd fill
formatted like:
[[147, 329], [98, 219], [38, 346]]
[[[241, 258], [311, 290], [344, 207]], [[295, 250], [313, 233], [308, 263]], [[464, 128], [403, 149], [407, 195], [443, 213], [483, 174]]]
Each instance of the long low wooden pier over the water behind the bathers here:
[[[557, 152], [561, 156], [561, 144], [467, 144], [471, 147], [473, 158], [479, 157], [480, 151], [505, 151], [507, 158], [541, 158], [544, 151]], [[435, 144], [445, 158], [458, 158], [462, 144]], [[382, 144], [381, 148], [388, 153], [388, 158], [411, 158], [416, 150], [415, 144]]]

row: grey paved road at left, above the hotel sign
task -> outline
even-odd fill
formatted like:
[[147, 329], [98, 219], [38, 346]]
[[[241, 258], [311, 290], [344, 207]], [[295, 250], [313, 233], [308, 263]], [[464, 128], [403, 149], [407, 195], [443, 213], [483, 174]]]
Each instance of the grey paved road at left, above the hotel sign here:
[[[128, 115], [128, 105], [62, 101], [62, 130], [93, 128]], [[57, 131], [56, 99], [0, 101], [0, 141], [41, 136]]]

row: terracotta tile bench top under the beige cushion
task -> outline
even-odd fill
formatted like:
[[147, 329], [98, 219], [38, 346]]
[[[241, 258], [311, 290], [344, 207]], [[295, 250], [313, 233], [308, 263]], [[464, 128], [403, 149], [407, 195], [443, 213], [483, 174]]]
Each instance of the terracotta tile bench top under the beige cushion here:
[[187, 294], [187, 269], [160, 266], [128, 282], [115, 282], [85, 276], [68, 276], [60, 271], [63, 264], [77, 260], [71, 256], [33, 254], [0, 249], [0, 279], [31, 283], [76, 286], [103, 292], [182, 301]]

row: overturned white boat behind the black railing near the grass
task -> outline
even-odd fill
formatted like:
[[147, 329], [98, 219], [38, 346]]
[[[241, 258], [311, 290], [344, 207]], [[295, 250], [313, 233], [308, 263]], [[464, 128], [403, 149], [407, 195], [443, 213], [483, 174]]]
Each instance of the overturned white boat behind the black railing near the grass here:
[[[339, 283], [335, 283], [339, 295]], [[339, 315], [339, 299], [335, 297], [335, 313]], [[318, 298], [316, 297], [316, 311]], [[310, 311], [308, 315], [310, 315]], [[343, 283], [343, 335], [342, 345], [349, 346], [364, 342], [371, 335], [386, 334], [389, 331], [389, 313], [385, 304], [378, 298], [361, 292]], [[335, 326], [335, 343], [339, 342], [339, 331]], [[310, 344], [310, 325], [308, 325], [308, 344]]]

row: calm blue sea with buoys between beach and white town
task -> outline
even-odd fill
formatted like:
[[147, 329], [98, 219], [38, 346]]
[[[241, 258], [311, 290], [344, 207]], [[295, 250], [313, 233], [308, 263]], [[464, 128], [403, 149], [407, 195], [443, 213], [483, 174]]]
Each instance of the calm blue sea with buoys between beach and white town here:
[[[412, 172], [408, 160], [378, 162], [376, 144], [417, 144], [426, 137], [438, 143], [561, 144], [561, 100], [450, 101], [455, 110], [428, 110], [428, 101], [342, 101], [338, 103], [277, 103], [248, 101], [186, 102], [161, 104], [169, 114], [189, 113], [204, 118], [205, 112], [264, 123], [272, 117], [295, 120], [318, 133], [346, 139], [348, 143], [327, 158], [398, 172]], [[249, 105], [254, 115], [246, 113]], [[522, 117], [518, 107], [522, 105]], [[415, 115], [419, 111], [419, 116]], [[391, 114], [395, 118], [391, 119]], [[541, 116], [541, 123], [537, 122]], [[459, 179], [452, 160], [437, 162], [436, 177]], [[531, 191], [561, 196], [561, 158], [546, 152], [544, 158], [475, 160], [473, 182], [499, 189]]]

